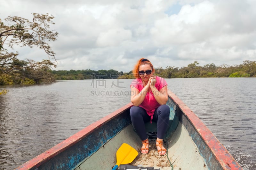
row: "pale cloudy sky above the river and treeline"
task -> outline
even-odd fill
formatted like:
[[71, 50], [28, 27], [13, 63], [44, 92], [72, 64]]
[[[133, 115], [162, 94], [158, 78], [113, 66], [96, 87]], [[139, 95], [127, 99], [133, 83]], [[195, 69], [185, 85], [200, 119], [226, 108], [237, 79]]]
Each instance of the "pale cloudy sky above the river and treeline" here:
[[[0, 0], [0, 18], [49, 13], [54, 70], [130, 71], [140, 57], [154, 67], [197, 61], [256, 61], [255, 0]], [[39, 48], [18, 48], [19, 59], [41, 61]]]

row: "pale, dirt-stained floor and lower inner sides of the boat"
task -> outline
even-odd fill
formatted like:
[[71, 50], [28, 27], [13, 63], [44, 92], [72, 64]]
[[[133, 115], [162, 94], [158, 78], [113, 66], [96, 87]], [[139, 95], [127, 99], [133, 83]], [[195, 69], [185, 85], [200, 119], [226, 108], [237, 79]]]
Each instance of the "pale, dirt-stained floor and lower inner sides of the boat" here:
[[208, 169], [205, 166], [204, 159], [198, 153], [195, 143], [188, 135], [188, 131], [179, 123], [171, 139], [164, 143], [164, 147], [168, 149], [168, 154], [164, 156], [158, 155], [156, 139], [149, 139], [149, 153], [141, 154], [141, 140], [133, 130], [132, 125], [129, 125], [104, 144], [92, 156], [85, 159], [76, 170], [112, 169], [116, 164], [116, 157], [114, 157], [118, 149], [116, 146], [121, 146], [122, 143], [130, 144], [139, 152], [138, 156], [130, 163], [133, 166], [142, 165], [142, 167], [154, 167], [154, 169], [160, 170], [170, 170], [172, 166], [173, 170]]

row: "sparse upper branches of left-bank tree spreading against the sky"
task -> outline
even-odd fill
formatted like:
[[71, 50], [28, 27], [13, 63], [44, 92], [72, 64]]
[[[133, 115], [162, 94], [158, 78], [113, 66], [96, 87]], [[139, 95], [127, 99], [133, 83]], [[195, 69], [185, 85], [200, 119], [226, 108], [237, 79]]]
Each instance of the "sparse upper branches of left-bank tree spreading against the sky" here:
[[50, 14], [33, 13], [32, 21], [21, 17], [7, 17], [6, 24], [0, 19], [0, 72], [8, 73], [12, 68], [6, 69], [12, 59], [18, 55], [16, 53], [9, 53], [6, 46], [13, 48], [15, 44], [20, 46], [28, 46], [32, 48], [37, 46], [45, 51], [48, 55], [48, 60], [52, 57], [55, 62], [55, 53], [52, 51], [48, 41], [55, 41], [58, 36], [57, 32], [49, 30], [50, 25], [54, 24], [52, 19], [54, 17]]

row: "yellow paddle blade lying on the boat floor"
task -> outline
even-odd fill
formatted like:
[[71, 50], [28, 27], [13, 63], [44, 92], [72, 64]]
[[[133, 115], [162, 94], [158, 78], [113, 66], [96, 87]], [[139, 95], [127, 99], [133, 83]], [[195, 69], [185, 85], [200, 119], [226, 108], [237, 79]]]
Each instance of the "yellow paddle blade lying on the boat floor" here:
[[116, 152], [116, 165], [131, 163], [139, 153], [129, 144], [123, 143]]

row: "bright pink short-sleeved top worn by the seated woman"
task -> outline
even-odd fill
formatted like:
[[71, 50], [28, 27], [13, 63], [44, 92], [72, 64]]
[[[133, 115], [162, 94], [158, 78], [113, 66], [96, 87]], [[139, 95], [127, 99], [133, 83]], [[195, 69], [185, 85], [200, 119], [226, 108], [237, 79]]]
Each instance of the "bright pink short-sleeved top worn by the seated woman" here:
[[[164, 78], [156, 76], [156, 85], [155, 87], [157, 88], [158, 91], [162, 89], [165, 85], [167, 85], [166, 81]], [[142, 83], [141, 78], [136, 78], [132, 81], [131, 86], [137, 88], [139, 91], [141, 91], [144, 86]], [[157, 95], [157, 94], [156, 94]], [[140, 107], [144, 108], [149, 116], [151, 116], [150, 121], [153, 118], [154, 112], [156, 108], [160, 106], [159, 103], [157, 103], [155, 96], [153, 95], [153, 92], [147, 92], [145, 99], [143, 102], [140, 104]]]

